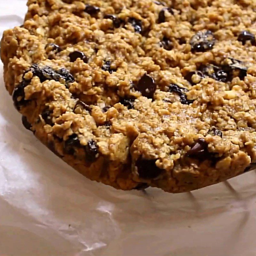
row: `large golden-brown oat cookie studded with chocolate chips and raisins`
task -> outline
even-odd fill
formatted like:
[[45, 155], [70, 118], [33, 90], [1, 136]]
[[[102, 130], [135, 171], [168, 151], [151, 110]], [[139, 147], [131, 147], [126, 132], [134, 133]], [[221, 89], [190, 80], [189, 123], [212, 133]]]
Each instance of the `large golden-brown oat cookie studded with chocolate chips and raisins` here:
[[26, 128], [91, 180], [183, 192], [256, 162], [254, 0], [28, 0], [4, 32]]

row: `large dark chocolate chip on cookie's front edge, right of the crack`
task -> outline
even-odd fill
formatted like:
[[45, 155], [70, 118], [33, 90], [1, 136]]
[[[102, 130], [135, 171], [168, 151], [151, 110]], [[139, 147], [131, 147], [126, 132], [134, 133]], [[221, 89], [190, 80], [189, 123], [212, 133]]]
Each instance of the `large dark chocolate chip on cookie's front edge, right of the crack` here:
[[141, 179], [156, 179], [163, 172], [163, 169], [160, 169], [156, 166], [157, 159], [143, 159], [140, 157], [135, 166], [137, 167], [138, 175]]

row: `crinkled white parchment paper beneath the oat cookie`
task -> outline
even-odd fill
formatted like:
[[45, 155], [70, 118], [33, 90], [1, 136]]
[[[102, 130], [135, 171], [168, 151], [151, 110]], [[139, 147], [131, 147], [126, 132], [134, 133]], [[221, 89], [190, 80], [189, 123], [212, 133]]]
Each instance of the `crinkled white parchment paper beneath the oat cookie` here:
[[[0, 0], [0, 33], [26, 0]], [[21, 124], [0, 66], [0, 255], [256, 255], [256, 172], [192, 193], [118, 191]]]

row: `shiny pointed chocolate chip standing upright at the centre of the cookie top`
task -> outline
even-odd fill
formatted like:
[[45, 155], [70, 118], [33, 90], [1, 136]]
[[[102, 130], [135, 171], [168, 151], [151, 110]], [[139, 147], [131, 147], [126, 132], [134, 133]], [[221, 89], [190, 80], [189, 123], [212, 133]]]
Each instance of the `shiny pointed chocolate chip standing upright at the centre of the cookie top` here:
[[141, 92], [141, 95], [147, 97], [148, 99], [153, 99], [154, 93], [156, 91], [156, 83], [151, 76], [144, 74], [135, 88], [137, 91]]

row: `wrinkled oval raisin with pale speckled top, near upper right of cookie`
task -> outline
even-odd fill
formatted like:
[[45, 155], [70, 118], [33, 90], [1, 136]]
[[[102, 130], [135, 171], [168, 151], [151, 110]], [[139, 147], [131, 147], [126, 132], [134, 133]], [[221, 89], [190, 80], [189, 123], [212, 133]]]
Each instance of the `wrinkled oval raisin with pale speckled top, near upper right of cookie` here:
[[213, 48], [215, 38], [212, 31], [202, 30], [192, 36], [189, 43], [193, 52], [205, 52]]

